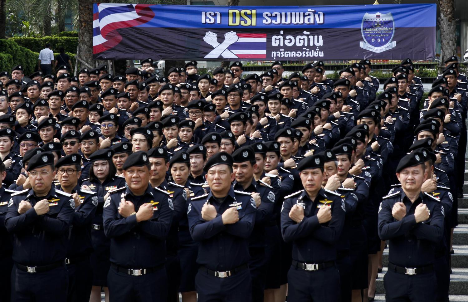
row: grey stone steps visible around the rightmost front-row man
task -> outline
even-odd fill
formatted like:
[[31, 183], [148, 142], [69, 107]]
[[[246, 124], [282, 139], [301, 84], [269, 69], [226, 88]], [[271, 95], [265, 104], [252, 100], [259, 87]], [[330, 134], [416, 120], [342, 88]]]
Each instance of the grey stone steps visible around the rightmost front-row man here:
[[[468, 160], [465, 160], [463, 192], [468, 193]], [[458, 227], [453, 232], [452, 274], [450, 275], [450, 301], [468, 301], [468, 194], [458, 199]], [[376, 280], [375, 301], [385, 301], [383, 276], [387, 272], [388, 248], [383, 254], [383, 272]]]

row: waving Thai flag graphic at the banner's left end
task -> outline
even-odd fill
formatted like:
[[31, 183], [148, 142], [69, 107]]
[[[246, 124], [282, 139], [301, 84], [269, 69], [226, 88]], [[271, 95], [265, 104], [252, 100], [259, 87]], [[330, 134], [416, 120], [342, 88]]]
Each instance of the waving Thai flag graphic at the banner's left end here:
[[99, 3], [93, 11], [93, 53], [104, 52], [122, 41], [117, 29], [134, 27], [154, 18], [149, 4]]

